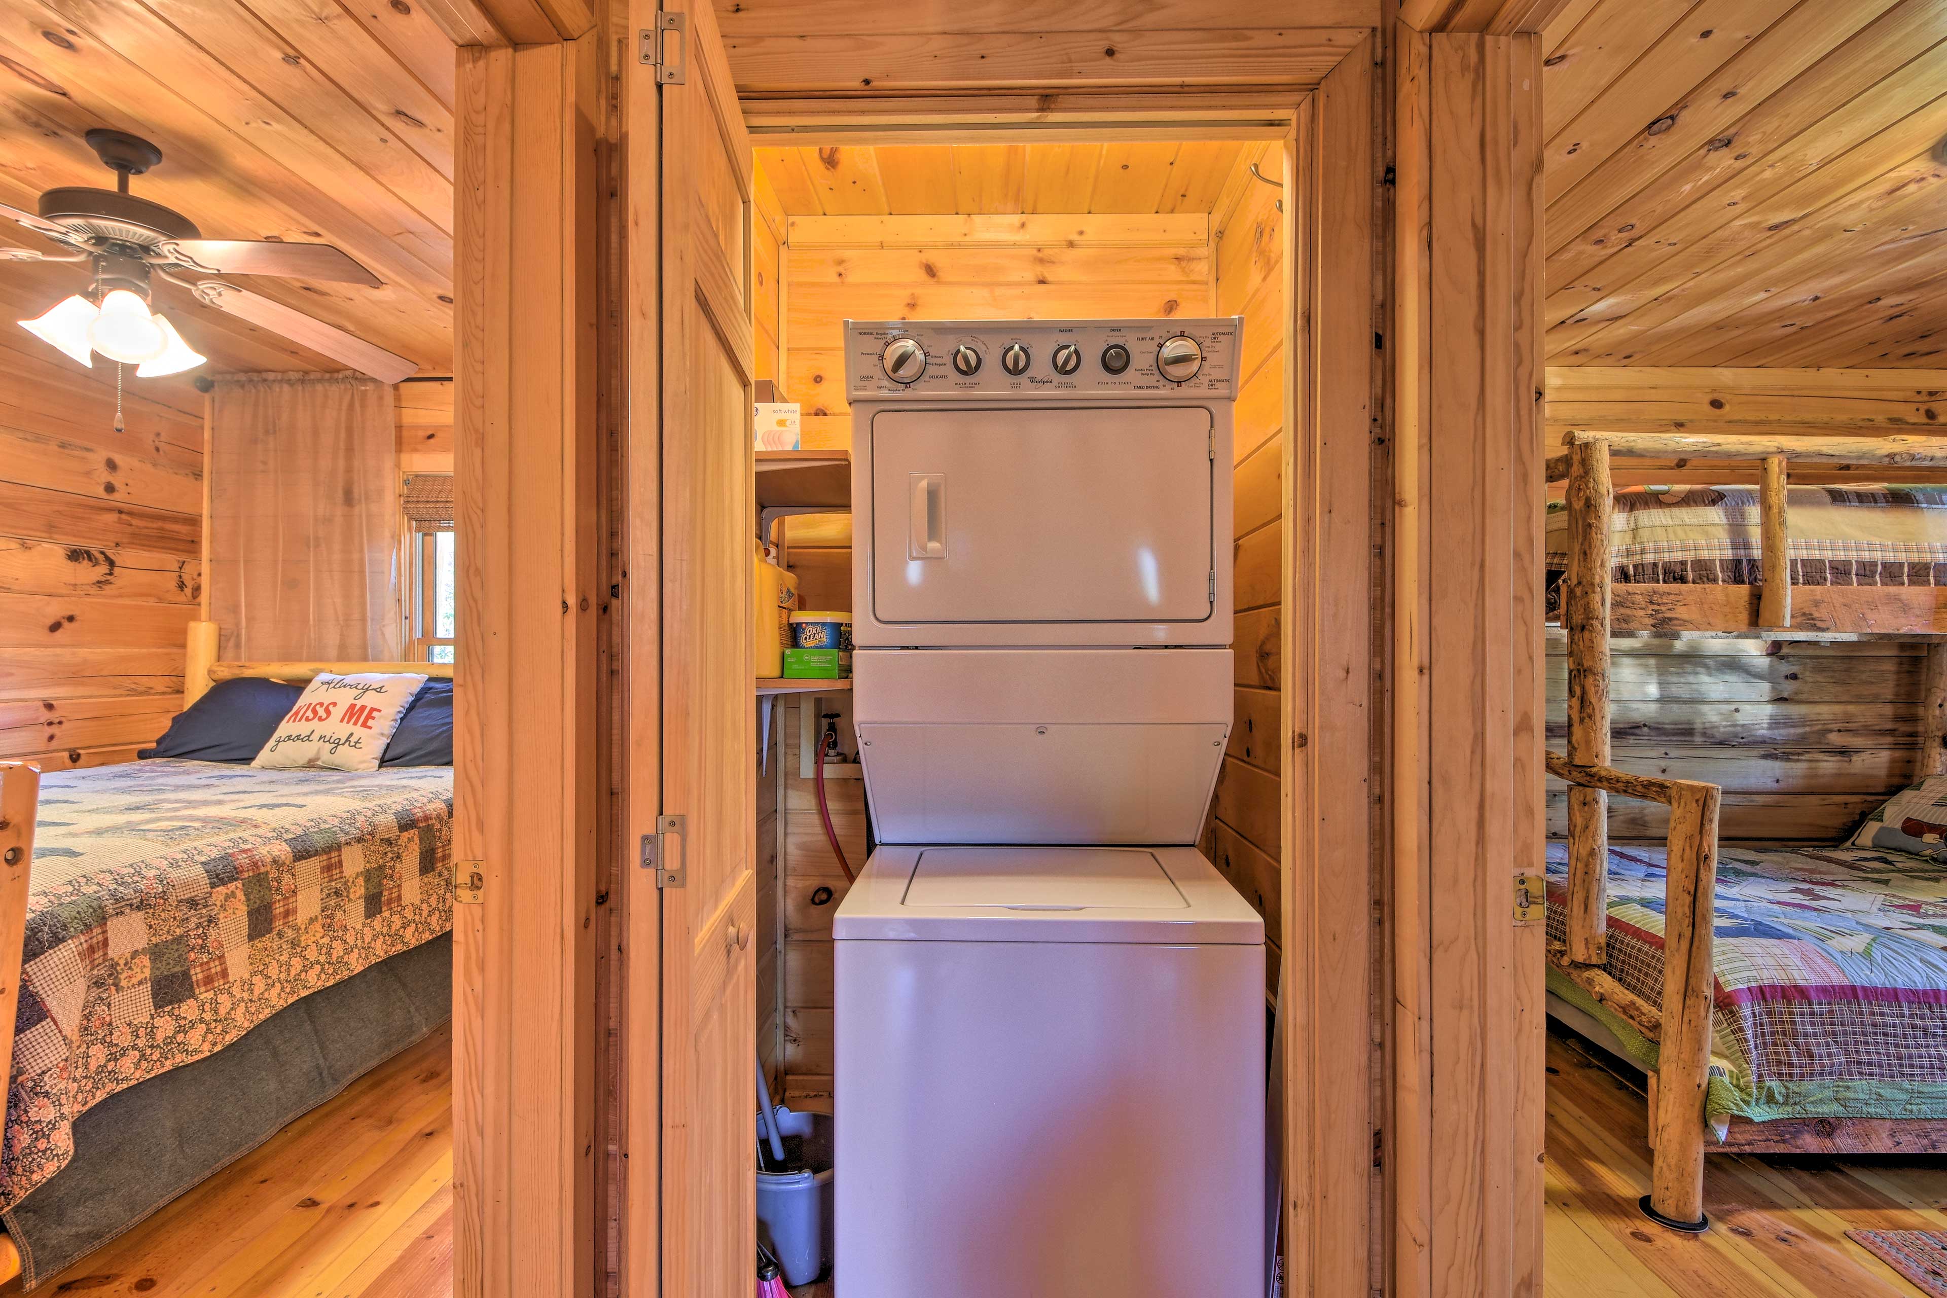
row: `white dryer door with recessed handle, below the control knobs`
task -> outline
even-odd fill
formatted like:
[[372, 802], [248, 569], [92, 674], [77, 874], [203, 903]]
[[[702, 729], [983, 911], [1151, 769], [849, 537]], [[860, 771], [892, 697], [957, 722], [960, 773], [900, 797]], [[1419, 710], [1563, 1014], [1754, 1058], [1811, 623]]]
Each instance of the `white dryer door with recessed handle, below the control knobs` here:
[[882, 411], [870, 438], [878, 621], [1211, 615], [1209, 411]]

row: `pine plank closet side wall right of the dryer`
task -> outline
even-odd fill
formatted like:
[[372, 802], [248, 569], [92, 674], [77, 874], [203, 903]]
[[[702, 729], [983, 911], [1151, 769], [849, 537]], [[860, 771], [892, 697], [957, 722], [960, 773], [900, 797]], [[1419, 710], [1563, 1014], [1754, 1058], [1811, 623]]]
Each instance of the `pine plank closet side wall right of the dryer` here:
[[1217, 315], [1244, 317], [1232, 479], [1236, 547], [1236, 712], [1217, 776], [1203, 854], [1264, 915], [1267, 989], [1279, 967], [1279, 522], [1283, 518], [1283, 214], [1281, 191], [1254, 179], [1283, 173], [1279, 144], [1252, 144], [1211, 222]]

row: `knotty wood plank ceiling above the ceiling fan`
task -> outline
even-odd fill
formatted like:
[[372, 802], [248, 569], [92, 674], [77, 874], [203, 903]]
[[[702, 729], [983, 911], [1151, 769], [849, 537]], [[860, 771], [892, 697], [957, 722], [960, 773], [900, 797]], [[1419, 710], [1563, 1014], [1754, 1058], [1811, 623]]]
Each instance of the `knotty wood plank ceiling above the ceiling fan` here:
[[[384, 280], [239, 284], [450, 374], [454, 76], [422, 0], [0, 0], [0, 200], [113, 189], [82, 136], [132, 130], [164, 154], [132, 193], [206, 237], [337, 243]], [[0, 239], [49, 247], [14, 222]], [[4, 321], [78, 278], [0, 263]], [[210, 370], [343, 368], [181, 290], [158, 286], [156, 306]]]

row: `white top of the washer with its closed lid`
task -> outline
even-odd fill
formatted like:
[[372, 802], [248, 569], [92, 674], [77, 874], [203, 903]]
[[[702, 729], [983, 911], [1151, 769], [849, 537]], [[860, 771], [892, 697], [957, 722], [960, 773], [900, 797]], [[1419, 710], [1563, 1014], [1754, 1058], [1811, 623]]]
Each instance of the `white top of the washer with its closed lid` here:
[[1264, 920], [1194, 847], [880, 847], [831, 936], [1256, 946]]

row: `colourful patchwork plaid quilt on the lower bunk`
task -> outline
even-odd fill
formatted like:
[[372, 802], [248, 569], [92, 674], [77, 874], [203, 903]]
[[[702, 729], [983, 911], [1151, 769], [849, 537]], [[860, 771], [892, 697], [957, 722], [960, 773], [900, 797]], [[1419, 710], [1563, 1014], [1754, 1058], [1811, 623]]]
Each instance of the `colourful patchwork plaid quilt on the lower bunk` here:
[[[1661, 847], [1608, 852], [1608, 961], [1663, 1004]], [[1567, 845], [1548, 845], [1548, 936], [1567, 938]], [[1947, 1117], [1947, 864], [1857, 847], [1717, 856], [1713, 1068], [1706, 1111]], [[1548, 991], [1614, 1029], [1645, 1070], [1657, 1047], [1565, 975]]]

